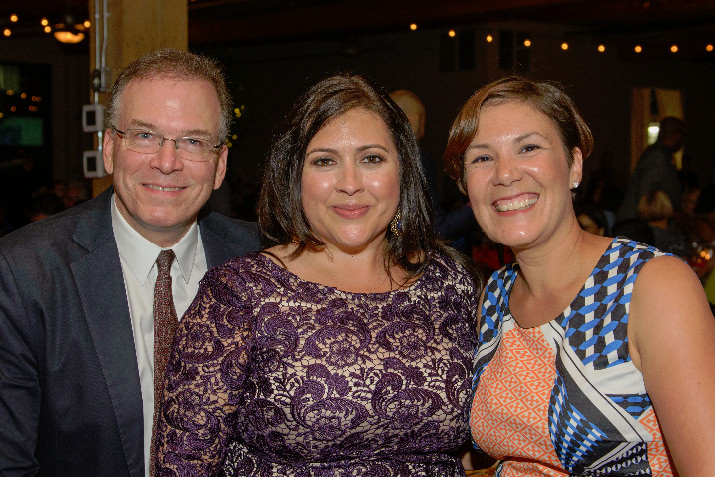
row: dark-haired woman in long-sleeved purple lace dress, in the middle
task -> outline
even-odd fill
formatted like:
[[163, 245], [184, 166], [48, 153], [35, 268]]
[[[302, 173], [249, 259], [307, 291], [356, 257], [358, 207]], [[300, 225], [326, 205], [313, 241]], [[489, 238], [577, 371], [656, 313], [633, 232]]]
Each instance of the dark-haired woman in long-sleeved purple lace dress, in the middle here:
[[298, 100], [261, 190], [275, 245], [210, 270], [179, 323], [155, 475], [464, 475], [481, 282], [418, 154], [359, 76]]

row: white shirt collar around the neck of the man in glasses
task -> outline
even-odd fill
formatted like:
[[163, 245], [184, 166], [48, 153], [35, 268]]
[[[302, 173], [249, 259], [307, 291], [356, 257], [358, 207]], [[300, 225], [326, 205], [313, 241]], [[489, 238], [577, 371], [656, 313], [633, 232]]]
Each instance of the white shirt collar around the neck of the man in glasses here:
[[[114, 194], [112, 194], [112, 228], [119, 255], [129, 266], [135, 278], [144, 282], [149, 277], [162, 247], [148, 241], [129, 225], [117, 208]], [[198, 238], [199, 226], [194, 222], [186, 235], [169, 247], [176, 254], [176, 263], [186, 283], [189, 283], [194, 268]]]

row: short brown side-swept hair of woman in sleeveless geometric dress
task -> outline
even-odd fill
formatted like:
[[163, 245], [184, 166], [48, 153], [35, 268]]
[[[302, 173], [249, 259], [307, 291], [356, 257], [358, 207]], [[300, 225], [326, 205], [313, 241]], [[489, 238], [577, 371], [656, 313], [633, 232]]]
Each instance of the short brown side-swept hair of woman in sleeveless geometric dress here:
[[568, 165], [578, 147], [585, 160], [593, 150], [593, 136], [576, 105], [563, 87], [551, 81], [534, 81], [520, 76], [507, 76], [479, 89], [462, 106], [449, 131], [444, 151], [447, 175], [457, 181], [462, 192], [467, 190], [464, 178], [464, 152], [477, 134], [482, 108], [508, 101], [523, 102], [550, 118], [564, 143]]

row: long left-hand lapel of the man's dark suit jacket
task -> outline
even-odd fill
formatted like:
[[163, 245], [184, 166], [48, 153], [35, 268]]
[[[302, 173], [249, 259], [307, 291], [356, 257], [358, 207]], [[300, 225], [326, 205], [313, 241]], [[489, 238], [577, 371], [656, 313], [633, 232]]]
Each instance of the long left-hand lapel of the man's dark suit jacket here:
[[112, 232], [111, 189], [77, 226], [74, 240], [87, 254], [72, 263], [82, 308], [109, 391], [127, 466], [144, 475], [139, 370], [119, 252]]

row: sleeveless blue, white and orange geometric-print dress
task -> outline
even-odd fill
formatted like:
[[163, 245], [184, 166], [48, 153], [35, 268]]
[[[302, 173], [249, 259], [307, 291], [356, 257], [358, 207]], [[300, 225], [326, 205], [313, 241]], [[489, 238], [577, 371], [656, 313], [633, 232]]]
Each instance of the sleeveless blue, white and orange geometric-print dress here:
[[521, 328], [509, 312], [516, 263], [487, 284], [475, 356], [475, 447], [498, 476], [673, 475], [660, 427], [628, 353], [631, 292], [664, 255], [628, 239], [609, 245], [571, 304]]

